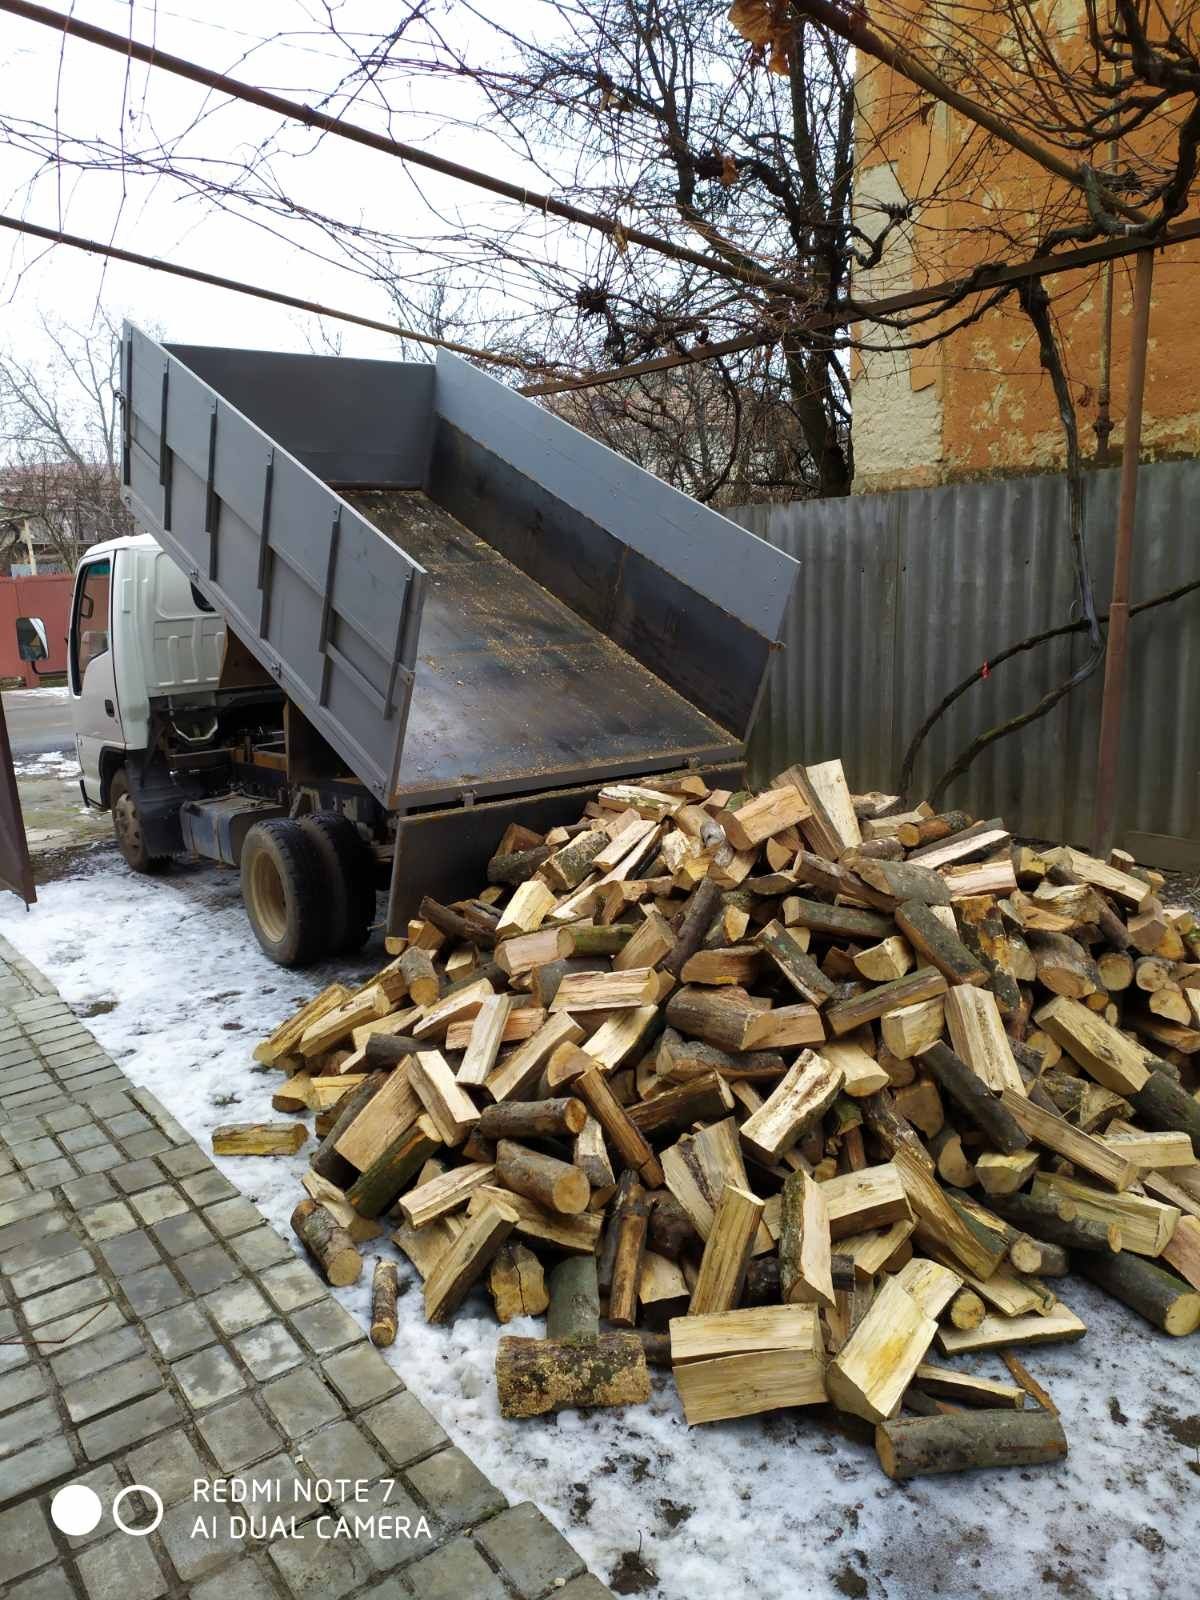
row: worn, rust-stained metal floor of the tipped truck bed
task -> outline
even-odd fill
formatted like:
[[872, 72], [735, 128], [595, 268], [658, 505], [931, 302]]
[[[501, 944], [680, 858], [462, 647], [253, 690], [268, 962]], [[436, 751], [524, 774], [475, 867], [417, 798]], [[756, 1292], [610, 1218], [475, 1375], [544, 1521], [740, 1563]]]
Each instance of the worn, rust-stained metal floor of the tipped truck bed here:
[[397, 803], [739, 754], [723, 728], [421, 491], [346, 499], [427, 574]]

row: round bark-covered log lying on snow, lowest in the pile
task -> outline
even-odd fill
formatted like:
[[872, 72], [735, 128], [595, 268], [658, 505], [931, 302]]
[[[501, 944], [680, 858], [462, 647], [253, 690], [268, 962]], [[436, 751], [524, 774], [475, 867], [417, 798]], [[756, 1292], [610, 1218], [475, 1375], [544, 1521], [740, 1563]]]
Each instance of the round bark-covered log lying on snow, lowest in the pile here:
[[890, 1478], [922, 1478], [1062, 1461], [1067, 1435], [1053, 1411], [960, 1411], [880, 1422], [875, 1453]]

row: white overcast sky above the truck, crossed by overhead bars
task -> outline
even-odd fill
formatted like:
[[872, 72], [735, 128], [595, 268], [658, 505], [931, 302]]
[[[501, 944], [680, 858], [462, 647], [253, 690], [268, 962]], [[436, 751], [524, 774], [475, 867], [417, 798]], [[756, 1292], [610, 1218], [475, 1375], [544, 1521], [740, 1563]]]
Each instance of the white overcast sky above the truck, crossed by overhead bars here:
[[[318, 0], [50, 3], [296, 98], [312, 99], [315, 90], [331, 88], [350, 64], [346, 46], [325, 30]], [[347, 37], [355, 30], [374, 34], [400, 14], [398, 6], [378, 0], [342, 0], [334, 10], [338, 26]], [[461, 6], [438, 3], [435, 10], [451, 27], [464, 27], [469, 21]], [[504, 14], [520, 21], [536, 10], [538, 0], [507, 0]], [[274, 35], [285, 37], [264, 43]], [[450, 109], [469, 122], [477, 109], [472, 94], [462, 83], [434, 86], [414, 80], [389, 85], [390, 133], [408, 142], [429, 144], [459, 162], [542, 187], [544, 179], [533, 166], [522, 170], [522, 163], [482, 130], [456, 130], [451, 141], [445, 134], [435, 138], [437, 118], [430, 110]], [[11, 16], [0, 16], [0, 104], [6, 117], [58, 128], [64, 141], [101, 134], [117, 146], [123, 136], [128, 146], [141, 149], [170, 144], [203, 112], [202, 128], [187, 134], [179, 150], [194, 157], [203, 154], [208, 160], [243, 158], [278, 128], [272, 114], [224, 101], [165, 72], [126, 64], [80, 40], [64, 45], [59, 34]], [[366, 98], [347, 117], [384, 126], [381, 107]], [[467, 229], [494, 226], [510, 219], [515, 210], [478, 190], [416, 173], [390, 157], [346, 141], [317, 141], [302, 128], [291, 130], [283, 142], [290, 154], [275, 158], [272, 168], [296, 200], [414, 242], [445, 234], [446, 224], [461, 222]], [[451, 149], [446, 149], [448, 142]], [[395, 309], [379, 285], [320, 258], [320, 251], [336, 254], [336, 250], [322, 243], [315, 230], [272, 221], [272, 227], [282, 226], [290, 235], [272, 237], [266, 227], [222, 214], [211, 203], [186, 194], [170, 178], [152, 179], [118, 170], [56, 171], [53, 162], [5, 146], [0, 147], [0, 210], [187, 266], [283, 288], [306, 299], [395, 318]], [[541, 232], [541, 219], [536, 226]], [[554, 226], [544, 234], [544, 248], [570, 248]], [[418, 259], [413, 256], [410, 264]], [[158, 326], [166, 338], [189, 342], [301, 350], [322, 347], [315, 317], [131, 266], [102, 264], [74, 250], [42, 246], [27, 237], [0, 232], [0, 344], [8, 349], [37, 350], [43, 342], [42, 315], [86, 325], [98, 304], [110, 314]], [[326, 322], [325, 328], [341, 338], [347, 354], [395, 354], [395, 344], [386, 334], [333, 322]]]

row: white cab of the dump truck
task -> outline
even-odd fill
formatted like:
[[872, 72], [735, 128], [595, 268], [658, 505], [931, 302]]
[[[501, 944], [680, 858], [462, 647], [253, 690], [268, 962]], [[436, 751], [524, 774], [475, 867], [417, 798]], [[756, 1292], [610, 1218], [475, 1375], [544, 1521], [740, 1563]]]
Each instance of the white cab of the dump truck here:
[[75, 574], [67, 650], [85, 800], [114, 803], [114, 778], [150, 749], [154, 709], [186, 717], [189, 738], [211, 726], [224, 642], [222, 618], [147, 533], [91, 546]]

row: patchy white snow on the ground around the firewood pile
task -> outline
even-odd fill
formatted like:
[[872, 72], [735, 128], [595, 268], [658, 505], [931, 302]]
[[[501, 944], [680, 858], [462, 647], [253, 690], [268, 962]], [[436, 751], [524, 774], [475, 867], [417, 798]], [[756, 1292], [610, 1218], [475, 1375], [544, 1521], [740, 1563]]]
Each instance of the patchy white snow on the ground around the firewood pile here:
[[[200, 866], [138, 878], [112, 850], [78, 858], [29, 914], [8, 901], [0, 931], [203, 1147], [221, 1122], [277, 1115], [278, 1075], [251, 1070], [253, 1043], [334, 976], [382, 960], [368, 950], [354, 966], [280, 971], [254, 944], [232, 872]], [[307, 1150], [218, 1165], [291, 1238], [306, 1158]], [[1195, 1517], [1186, 1507], [1200, 1491], [1200, 1338], [1168, 1339], [1077, 1280], [1064, 1298], [1090, 1325], [1088, 1338], [1027, 1352], [1062, 1411], [1069, 1461], [901, 1486], [880, 1474], [869, 1445], [811, 1413], [688, 1432], [666, 1374], [656, 1374], [648, 1406], [504, 1424], [490, 1304], [477, 1294], [451, 1326], [429, 1328], [419, 1285], [400, 1259], [408, 1291], [392, 1365], [512, 1499], [542, 1506], [622, 1592], [664, 1600], [1197, 1592]], [[366, 1322], [370, 1266], [338, 1293]], [[509, 1331], [536, 1334], [542, 1325]], [[973, 1370], [1005, 1376], [995, 1358]], [[637, 1565], [638, 1549], [656, 1581]]]

